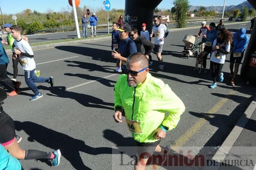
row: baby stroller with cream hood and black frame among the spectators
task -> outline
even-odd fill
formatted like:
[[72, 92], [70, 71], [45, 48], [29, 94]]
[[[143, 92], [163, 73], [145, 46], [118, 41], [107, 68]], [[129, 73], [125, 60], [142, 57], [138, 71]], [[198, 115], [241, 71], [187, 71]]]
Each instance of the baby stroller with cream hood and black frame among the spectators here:
[[[183, 38], [183, 43], [185, 44], [185, 47], [183, 51], [180, 52], [180, 58], [186, 57], [189, 58], [190, 55], [194, 55], [194, 57], [197, 57], [197, 55], [201, 51], [201, 45], [203, 42], [199, 42], [198, 44], [195, 44], [195, 37], [194, 35], [185, 35]], [[199, 40], [199, 39], [197, 39]], [[199, 49], [199, 53], [196, 51]]]

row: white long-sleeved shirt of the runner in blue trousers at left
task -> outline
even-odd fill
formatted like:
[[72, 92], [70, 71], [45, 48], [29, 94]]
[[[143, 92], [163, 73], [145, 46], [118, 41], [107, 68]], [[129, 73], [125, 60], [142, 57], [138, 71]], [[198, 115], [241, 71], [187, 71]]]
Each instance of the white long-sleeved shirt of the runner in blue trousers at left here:
[[[13, 49], [18, 49], [22, 53], [28, 53], [29, 55], [34, 55], [30, 45], [23, 38], [21, 38], [19, 42], [15, 40], [14, 44], [15, 44], [15, 47]], [[20, 62], [22, 63], [22, 68], [24, 70], [31, 71], [35, 69], [35, 60], [33, 57], [21, 56], [19, 57], [19, 59], [20, 59]]]

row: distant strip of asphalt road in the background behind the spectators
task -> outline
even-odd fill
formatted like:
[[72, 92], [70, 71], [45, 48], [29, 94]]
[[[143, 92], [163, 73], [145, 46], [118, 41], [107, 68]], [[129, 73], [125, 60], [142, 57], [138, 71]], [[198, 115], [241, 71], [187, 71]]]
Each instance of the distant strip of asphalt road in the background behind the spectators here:
[[[215, 22], [216, 25], [219, 24], [218, 21], [207, 21], [207, 25], [211, 22]], [[187, 27], [191, 26], [198, 26], [200, 27], [201, 22], [188, 22], [186, 24]], [[231, 21], [225, 21], [225, 23], [231, 23]], [[169, 24], [168, 28], [176, 27], [174, 24]], [[250, 27], [250, 24], [247, 26]], [[111, 27], [109, 28], [109, 33], [111, 34]], [[107, 35], [107, 29], [97, 29], [97, 35]], [[83, 37], [83, 32], [80, 31], [81, 37]], [[37, 34], [37, 35], [26, 35], [29, 38], [29, 43], [37, 43], [37, 42], [46, 42], [46, 41], [53, 41], [53, 40], [63, 40], [63, 39], [72, 39], [77, 37], [76, 31], [69, 31], [69, 32], [60, 32], [60, 33], [46, 33], [46, 34]], [[88, 29], [88, 36], [90, 36], [90, 29]]]

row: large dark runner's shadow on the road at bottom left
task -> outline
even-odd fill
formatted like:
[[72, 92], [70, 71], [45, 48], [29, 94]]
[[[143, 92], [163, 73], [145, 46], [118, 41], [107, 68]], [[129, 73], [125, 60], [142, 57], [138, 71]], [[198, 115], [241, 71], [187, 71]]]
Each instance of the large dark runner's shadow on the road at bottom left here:
[[63, 157], [68, 160], [76, 170], [91, 170], [84, 165], [79, 152], [84, 152], [90, 155], [112, 154], [112, 148], [93, 148], [85, 144], [84, 141], [74, 139], [64, 133], [46, 128], [34, 122], [15, 121], [15, 128], [17, 131], [24, 130], [24, 132], [29, 135], [28, 141], [30, 142], [37, 141], [53, 150], [60, 149]]

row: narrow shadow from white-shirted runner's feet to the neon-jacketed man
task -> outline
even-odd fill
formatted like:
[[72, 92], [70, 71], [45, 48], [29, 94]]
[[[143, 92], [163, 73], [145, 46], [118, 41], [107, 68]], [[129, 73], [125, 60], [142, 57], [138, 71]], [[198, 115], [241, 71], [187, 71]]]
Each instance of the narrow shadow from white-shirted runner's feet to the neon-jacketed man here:
[[[76, 93], [72, 91], [66, 91], [66, 87], [64, 86], [55, 86], [51, 88], [47, 88], [45, 86], [39, 86], [39, 88], [42, 90], [50, 90], [52, 94], [46, 93], [49, 96], [74, 99], [85, 107], [103, 108], [103, 109], [109, 109], [109, 110], [113, 110], [113, 107], [114, 107], [113, 103], [104, 102], [103, 100], [97, 97], [87, 95], [87, 94], [82, 94], [82, 93]], [[111, 107], [108, 107], [108, 106], [111, 106]]]

